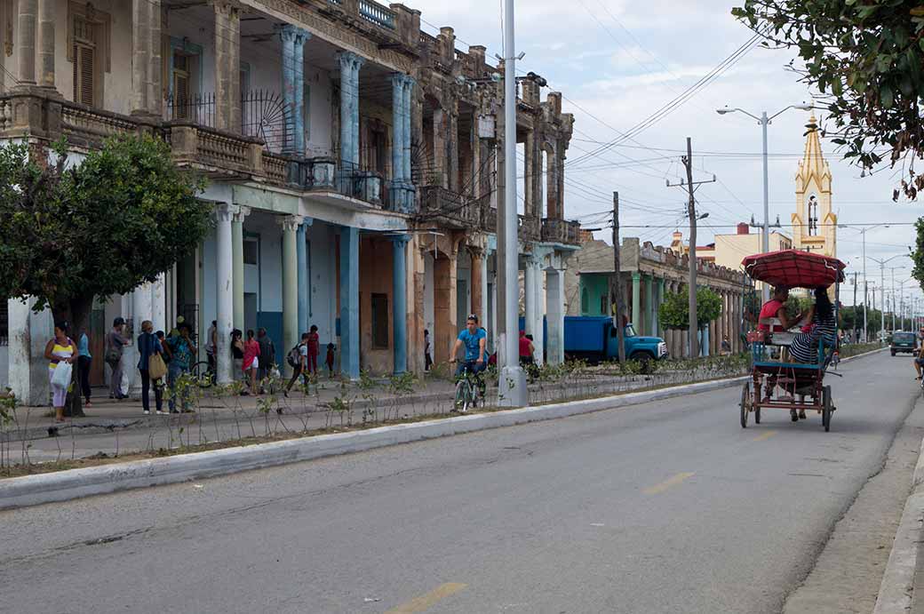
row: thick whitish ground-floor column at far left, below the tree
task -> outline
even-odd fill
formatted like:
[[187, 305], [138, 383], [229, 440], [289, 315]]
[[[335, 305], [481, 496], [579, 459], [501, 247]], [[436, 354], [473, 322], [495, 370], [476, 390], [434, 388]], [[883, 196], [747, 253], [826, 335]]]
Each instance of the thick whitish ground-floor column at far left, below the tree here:
[[32, 312], [35, 299], [9, 299], [8, 386], [19, 403], [30, 407], [48, 407], [51, 386], [45, 344], [55, 334], [51, 310]]

